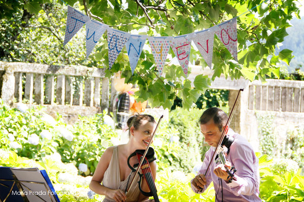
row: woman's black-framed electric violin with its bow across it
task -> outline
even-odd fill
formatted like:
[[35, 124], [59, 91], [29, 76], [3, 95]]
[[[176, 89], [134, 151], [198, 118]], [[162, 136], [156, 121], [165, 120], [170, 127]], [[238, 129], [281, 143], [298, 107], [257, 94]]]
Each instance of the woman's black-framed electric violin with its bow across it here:
[[[155, 132], [161, 122], [163, 118], [163, 115], [160, 117], [157, 125], [156, 125], [156, 128], [151, 136], [151, 140], [149, 142], [149, 144], [147, 145], [147, 148], [145, 150], [136, 150], [134, 153], [132, 153], [130, 155], [130, 157], [128, 158], [128, 165], [129, 167], [131, 168], [131, 170], [133, 172], [135, 172], [135, 175], [133, 176], [133, 179], [130, 183], [130, 186], [127, 186], [126, 187], [126, 194], [127, 192], [129, 191], [130, 187], [132, 186], [132, 184], [135, 182], [134, 179], [135, 179], [135, 176], [137, 174], [139, 174], [140, 178], [139, 178], [139, 190], [141, 191], [141, 193], [145, 196], [153, 196], [154, 197], [154, 200], [156, 202], [160, 202], [159, 198], [158, 198], [158, 195], [157, 195], [157, 190], [156, 190], [156, 186], [155, 186], [155, 183], [154, 183], [154, 179], [153, 179], [153, 175], [152, 175], [152, 172], [151, 172], [151, 169], [150, 169], [150, 166], [149, 166], [149, 162], [152, 162], [155, 160], [154, 158], [154, 149], [149, 147], [150, 144], [153, 142], [153, 137], [155, 135]], [[133, 155], [133, 156], [132, 156]], [[129, 160], [131, 157], [134, 157], [134, 156], [137, 156], [137, 159], [138, 159], [138, 162], [139, 164], [138, 165], [134, 165], [133, 167], [136, 167], [137, 166], [137, 169], [135, 170], [135, 168], [133, 168], [130, 163], [129, 163]], [[150, 161], [149, 161], [150, 160]], [[142, 174], [140, 174], [138, 171], [139, 171], [139, 168], [142, 170]], [[131, 174], [130, 174], [131, 175]], [[144, 192], [142, 189], [141, 189], [141, 182], [142, 182], [142, 177], [145, 178], [147, 184], [148, 184], [148, 187], [150, 189], [150, 192]]]

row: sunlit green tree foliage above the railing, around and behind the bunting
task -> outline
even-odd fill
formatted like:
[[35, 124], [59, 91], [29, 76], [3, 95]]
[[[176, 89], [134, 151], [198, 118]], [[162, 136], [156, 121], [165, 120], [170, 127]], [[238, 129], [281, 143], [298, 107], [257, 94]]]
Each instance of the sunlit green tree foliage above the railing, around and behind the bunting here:
[[[151, 2], [127, 0], [126, 2], [122, 2], [116, 0], [92, 0], [80, 1], [79, 3], [77, 3], [76, 0], [67, 1], [69, 5], [79, 10], [84, 10], [83, 12], [88, 16], [102, 21], [109, 26], [122, 31], [140, 32], [141, 34], [150, 36], [177, 36], [187, 34], [195, 30], [207, 29], [239, 16], [237, 19], [239, 62], [233, 59], [225, 46], [215, 37], [212, 61], [213, 76], [211, 80], [214, 80], [215, 77], [219, 77], [221, 74], [225, 77], [230, 76], [233, 79], [244, 76], [249, 80], [264, 80], [266, 78], [265, 75], [271, 75], [272, 72], [276, 73], [278, 71], [279, 67], [277, 64], [280, 61], [285, 61], [287, 64], [290, 63], [293, 57], [292, 51], [285, 48], [276, 56], [275, 47], [288, 35], [286, 28], [291, 26], [289, 21], [293, 14], [299, 18], [299, 10], [295, 5], [295, 0], [267, 2], [258, 6], [262, 2], [264, 1], [220, 0], [202, 2], [198, 0], [166, 0]], [[9, 25], [9, 27], [11, 26], [11, 31], [6, 32], [7, 28], [1, 31], [3, 35], [6, 36], [4, 37], [6, 41], [5, 44], [8, 43], [8, 45], [4, 47], [3, 52], [9, 53], [4, 58], [2, 57], [2, 60], [29, 62], [26, 57], [22, 58], [21, 56], [40, 55], [43, 53], [39, 50], [45, 49], [46, 51], [44, 53], [46, 53], [46, 55], [29, 58], [35, 62], [53, 64], [52, 60], [48, 60], [48, 56], [55, 54], [54, 56], [57, 57], [51, 58], [58, 58], [58, 60], [56, 59], [54, 61], [54, 63], [57, 64], [80, 64], [97, 67], [108, 66], [106, 41], [102, 41], [97, 45], [96, 53], [90, 56], [89, 61], [85, 59], [84, 51], [80, 51], [81, 48], [75, 52], [71, 51], [72, 48], [84, 46], [83, 41], [81, 42], [83, 45], [75, 44], [74, 42], [77, 40], [75, 38], [72, 40], [74, 45], [69, 46], [69, 44], [67, 44], [67, 47], [64, 47], [64, 49], [61, 49], [61, 45], [58, 45], [61, 44], [63, 40], [66, 19], [66, 12], [62, 15], [60, 10], [66, 10], [65, 6], [58, 6], [48, 1], [41, 2], [40, 0], [19, 3], [20, 4], [12, 3], [11, 1], [2, 1], [0, 3], [1, 8], [6, 9], [1, 11], [0, 17], [10, 19], [13, 13], [18, 13], [19, 16], [23, 16], [25, 11], [29, 12], [30, 15], [25, 15], [27, 18], [32, 18], [31, 15], [34, 14], [35, 19], [41, 21], [40, 24], [36, 25], [38, 27], [50, 27], [49, 31], [56, 33], [57, 37], [48, 37], [46, 36], [47, 34], [41, 35], [32, 29], [27, 29], [30, 27], [30, 23], [24, 25], [27, 31], [22, 35], [18, 28], [20, 21], [16, 19], [17, 22], [13, 24], [3, 19], [1, 24], [6, 24], [4, 27], [7, 27], [7, 25]], [[74, 5], [74, 3], [77, 4]], [[49, 6], [51, 9], [45, 9], [46, 6]], [[241, 15], [250, 9], [252, 9], [252, 11]], [[50, 17], [51, 15], [55, 17]], [[21, 17], [21, 19], [23, 18]], [[33, 21], [33, 24], [35, 23], [38, 22]], [[16, 33], [17, 37], [13, 37], [16, 39], [20, 34], [19, 40], [14, 43], [14, 40], [7, 37], [7, 33], [13, 35]], [[29, 37], [29, 35], [32, 37]], [[25, 42], [22, 39], [25, 39]], [[44, 39], [47, 40], [48, 43], [39, 42]], [[61, 49], [61, 51], [59, 51], [60, 54], [58, 54], [58, 51], [54, 52], [52, 48], [49, 49], [45, 45], [49, 44], [49, 42], [51, 42], [51, 46], [55, 50]], [[33, 44], [33, 50], [31, 48], [28, 48], [28, 51], [25, 51], [24, 48], [20, 50], [18, 47], [23, 47], [23, 43], [28, 43], [27, 47], [29, 47], [29, 44]], [[13, 44], [13, 46], [10, 44]], [[37, 47], [35, 47], [36, 45]], [[43, 48], [39, 49], [38, 47]], [[20, 51], [23, 52], [21, 55], [18, 54]], [[70, 55], [67, 56], [67, 54]], [[174, 58], [172, 50], [169, 55], [168, 58]], [[157, 68], [154, 65], [153, 55], [148, 49], [143, 50], [137, 69], [133, 75], [127, 58], [127, 50], [123, 49], [122, 54], [119, 55], [111, 70], [106, 71], [106, 75], [109, 77], [113, 72], [121, 70], [123, 77], [126, 78], [126, 82], [138, 85], [140, 90], [135, 93], [137, 101], [149, 100], [152, 107], [163, 106], [164, 108], [170, 109], [174, 99], [178, 96], [183, 100], [183, 108], [189, 109], [210, 84], [208, 76], [198, 75], [194, 80], [193, 85], [195, 87], [193, 88], [191, 81], [185, 78], [182, 69], [179, 66], [171, 65], [169, 59], [164, 67], [164, 76], [158, 75]], [[71, 62], [69, 62], [70, 60]], [[194, 48], [192, 48], [190, 60], [192, 64], [200, 62], [203, 67], [206, 67], [205, 61]], [[188, 73], [191, 73], [191, 69], [189, 69]]]

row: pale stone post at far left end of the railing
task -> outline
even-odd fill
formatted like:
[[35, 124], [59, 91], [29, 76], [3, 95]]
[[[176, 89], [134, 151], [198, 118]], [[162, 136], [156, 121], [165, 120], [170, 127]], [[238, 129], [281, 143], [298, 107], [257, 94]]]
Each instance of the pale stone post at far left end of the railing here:
[[6, 71], [3, 75], [2, 100], [4, 103], [12, 106], [15, 93], [15, 76], [14, 72]]

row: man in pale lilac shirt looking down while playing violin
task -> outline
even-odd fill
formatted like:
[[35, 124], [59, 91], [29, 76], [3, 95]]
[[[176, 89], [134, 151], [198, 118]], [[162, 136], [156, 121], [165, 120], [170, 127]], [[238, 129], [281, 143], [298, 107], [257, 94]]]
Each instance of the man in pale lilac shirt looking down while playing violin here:
[[[220, 141], [227, 115], [218, 108], [210, 108], [200, 117], [201, 132], [211, 146], [205, 154], [203, 165], [198, 175], [191, 180], [191, 188], [196, 193], [203, 193], [213, 181], [215, 201], [261, 201], [259, 194], [258, 159], [252, 146], [231, 128], [226, 131], [221, 145], [225, 145], [226, 163], [213, 161], [207, 171], [215, 149]], [[214, 156], [214, 157], [218, 157]], [[233, 177], [228, 172], [232, 166], [237, 170]], [[207, 172], [206, 172], [207, 171]], [[206, 173], [206, 176], [205, 176]]]

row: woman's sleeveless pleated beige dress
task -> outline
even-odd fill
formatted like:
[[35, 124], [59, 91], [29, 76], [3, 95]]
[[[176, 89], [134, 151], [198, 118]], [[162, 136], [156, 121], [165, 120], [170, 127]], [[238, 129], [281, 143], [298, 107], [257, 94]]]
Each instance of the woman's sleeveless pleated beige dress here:
[[[126, 165], [128, 166], [128, 165]], [[141, 171], [140, 171], [141, 173]], [[135, 172], [131, 174], [130, 180], [129, 180], [129, 185], [131, 183], [131, 180], [133, 179]], [[119, 156], [118, 156], [118, 147], [115, 146], [113, 149], [113, 155], [111, 158], [111, 161], [109, 163], [109, 167], [106, 169], [103, 180], [102, 180], [102, 185], [105, 187], [108, 187], [110, 189], [121, 189], [125, 192], [126, 186], [128, 183], [129, 177], [125, 179], [124, 181], [120, 181], [120, 169], [119, 169]], [[126, 202], [135, 202], [137, 201], [140, 191], [138, 188], [138, 180], [139, 180], [139, 175], [137, 174], [135, 182], [133, 183], [132, 187], [129, 189], [127, 193], [127, 199]], [[103, 199], [103, 202], [112, 202], [115, 200], [105, 197]]]

